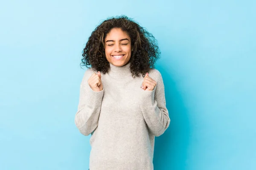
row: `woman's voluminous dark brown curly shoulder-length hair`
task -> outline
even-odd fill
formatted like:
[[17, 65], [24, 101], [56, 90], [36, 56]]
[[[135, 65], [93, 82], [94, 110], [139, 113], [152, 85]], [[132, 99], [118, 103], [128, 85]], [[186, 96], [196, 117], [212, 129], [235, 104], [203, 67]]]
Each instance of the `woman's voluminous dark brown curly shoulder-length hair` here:
[[93, 70], [103, 74], [108, 72], [110, 65], [105, 56], [104, 42], [112, 28], [121, 28], [131, 38], [132, 77], [140, 77], [140, 74], [145, 77], [145, 74], [154, 68], [156, 60], [160, 58], [157, 40], [145, 28], [124, 15], [109, 18], [95, 28], [83, 50], [80, 66], [92, 67]]

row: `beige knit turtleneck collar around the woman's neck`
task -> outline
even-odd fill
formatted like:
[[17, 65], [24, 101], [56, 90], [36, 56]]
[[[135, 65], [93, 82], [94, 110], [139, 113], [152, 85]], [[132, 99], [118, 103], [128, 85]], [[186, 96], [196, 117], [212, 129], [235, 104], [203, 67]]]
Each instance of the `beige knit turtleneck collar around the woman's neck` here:
[[111, 63], [109, 63], [109, 65], [110, 65], [110, 69], [108, 71], [109, 76], [111, 76], [113, 78], [117, 78], [117, 79], [131, 77], [131, 70], [130, 70], [131, 62], [130, 61], [126, 65], [123, 65], [121, 67], [113, 65]]

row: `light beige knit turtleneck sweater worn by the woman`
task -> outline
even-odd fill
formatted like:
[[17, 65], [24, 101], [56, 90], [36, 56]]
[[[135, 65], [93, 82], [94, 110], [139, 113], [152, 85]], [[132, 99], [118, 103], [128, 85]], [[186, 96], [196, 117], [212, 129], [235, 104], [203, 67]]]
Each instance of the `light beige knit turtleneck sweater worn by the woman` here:
[[153, 91], [140, 88], [143, 77], [132, 77], [130, 63], [101, 74], [103, 89], [95, 92], [88, 68], [80, 85], [75, 124], [90, 137], [90, 170], [153, 170], [154, 139], [170, 123], [163, 79], [157, 69], [148, 76], [157, 82]]

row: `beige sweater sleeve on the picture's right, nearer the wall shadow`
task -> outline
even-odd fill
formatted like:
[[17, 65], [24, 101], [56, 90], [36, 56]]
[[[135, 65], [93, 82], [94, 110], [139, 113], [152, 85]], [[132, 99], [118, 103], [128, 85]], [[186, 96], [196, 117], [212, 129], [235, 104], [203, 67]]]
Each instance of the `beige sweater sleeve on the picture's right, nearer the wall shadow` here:
[[157, 85], [153, 91], [142, 90], [140, 108], [149, 131], [160, 136], [169, 127], [170, 118], [166, 108], [163, 78], [157, 71]]

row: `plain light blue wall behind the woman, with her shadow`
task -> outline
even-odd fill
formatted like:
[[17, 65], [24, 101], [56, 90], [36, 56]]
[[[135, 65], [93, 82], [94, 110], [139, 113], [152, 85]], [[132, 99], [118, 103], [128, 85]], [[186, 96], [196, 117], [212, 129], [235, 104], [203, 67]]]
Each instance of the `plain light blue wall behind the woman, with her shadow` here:
[[256, 169], [256, 3], [11, 0], [0, 5], [0, 170], [87, 170], [74, 117], [93, 29], [125, 14], [162, 51], [171, 124], [156, 170]]

